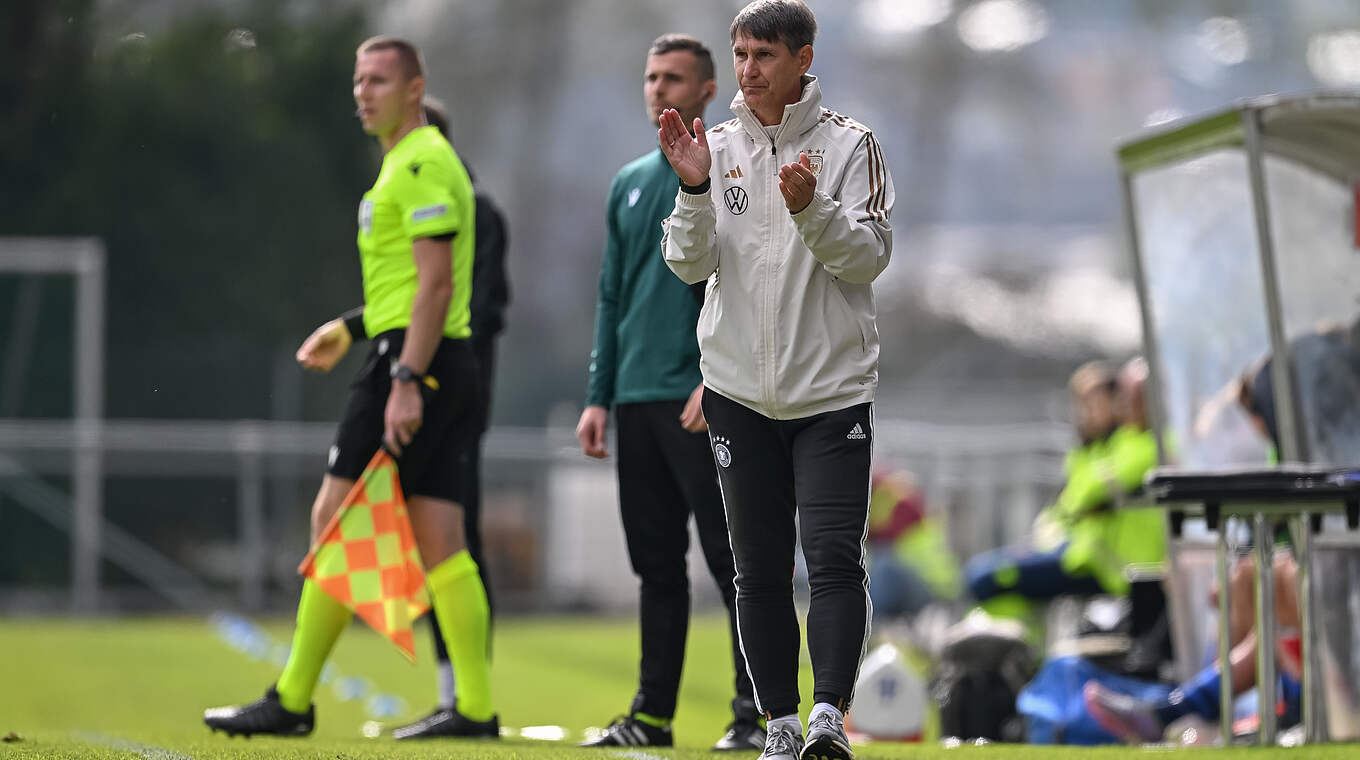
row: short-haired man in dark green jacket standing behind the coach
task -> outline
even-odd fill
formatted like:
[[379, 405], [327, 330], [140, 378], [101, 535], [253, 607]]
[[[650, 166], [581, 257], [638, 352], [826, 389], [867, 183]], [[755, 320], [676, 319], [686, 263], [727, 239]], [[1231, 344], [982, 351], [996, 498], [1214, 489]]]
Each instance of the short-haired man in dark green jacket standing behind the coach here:
[[[687, 122], [703, 116], [717, 92], [713, 75], [713, 54], [698, 39], [657, 38], [643, 75], [653, 125], [665, 109], [679, 110]], [[670, 719], [690, 624], [685, 553], [692, 513], [728, 608], [736, 674], [733, 722], [714, 749], [759, 750], [764, 729], [737, 638], [736, 566], [699, 405], [703, 385], [695, 325], [703, 294], [672, 275], [661, 257], [661, 222], [679, 188], [660, 148], [624, 166], [609, 188], [590, 383], [577, 438], [588, 457], [605, 458], [605, 424], [613, 407], [619, 507], [628, 559], [641, 581], [642, 662], [628, 714], [586, 744], [673, 744]]]

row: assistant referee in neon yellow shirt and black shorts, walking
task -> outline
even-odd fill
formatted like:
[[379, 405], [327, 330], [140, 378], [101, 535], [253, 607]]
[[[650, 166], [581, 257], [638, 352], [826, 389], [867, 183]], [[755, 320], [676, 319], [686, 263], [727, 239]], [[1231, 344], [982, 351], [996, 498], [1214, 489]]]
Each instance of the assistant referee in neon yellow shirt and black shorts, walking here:
[[[384, 151], [378, 179], [359, 205], [363, 326], [373, 349], [352, 385], [311, 508], [311, 540], [340, 507], [364, 465], [386, 443], [398, 457], [431, 604], [458, 683], [457, 730], [496, 737], [487, 666], [487, 594], [462, 534], [454, 466], [476, 393], [469, 347], [472, 184], [449, 143], [426, 126], [420, 56], [405, 41], [375, 37], [355, 54], [354, 99], [364, 132]], [[298, 351], [326, 371], [351, 343], [343, 319], [318, 328]], [[227, 734], [311, 733], [311, 693], [352, 613], [313, 582], [302, 586], [288, 662], [264, 697], [204, 712]]]

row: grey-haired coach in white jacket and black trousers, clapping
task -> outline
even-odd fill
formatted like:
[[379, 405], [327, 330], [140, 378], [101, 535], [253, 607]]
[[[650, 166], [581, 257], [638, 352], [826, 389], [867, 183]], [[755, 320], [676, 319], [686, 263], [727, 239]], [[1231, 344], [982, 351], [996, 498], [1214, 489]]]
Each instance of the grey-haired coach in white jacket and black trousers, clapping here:
[[[737, 625], [767, 718], [762, 757], [853, 757], [843, 718], [869, 636], [864, 568], [879, 332], [870, 283], [892, 252], [892, 179], [873, 133], [821, 107], [816, 19], [756, 0], [732, 22], [737, 118], [694, 135], [675, 110], [661, 148], [680, 177], [662, 252], [707, 280], [700, 370], [737, 564]], [[798, 721], [800, 530], [815, 677]]]

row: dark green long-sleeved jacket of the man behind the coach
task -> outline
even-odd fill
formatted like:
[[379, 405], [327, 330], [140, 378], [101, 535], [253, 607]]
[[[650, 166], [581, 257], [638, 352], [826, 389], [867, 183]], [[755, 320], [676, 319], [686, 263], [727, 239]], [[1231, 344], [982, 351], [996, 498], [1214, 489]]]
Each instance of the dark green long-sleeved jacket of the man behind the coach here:
[[683, 400], [703, 379], [699, 299], [661, 256], [661, 222], [679, 190], [661, 148], [620, 169], [609, 186], [589, 407]]

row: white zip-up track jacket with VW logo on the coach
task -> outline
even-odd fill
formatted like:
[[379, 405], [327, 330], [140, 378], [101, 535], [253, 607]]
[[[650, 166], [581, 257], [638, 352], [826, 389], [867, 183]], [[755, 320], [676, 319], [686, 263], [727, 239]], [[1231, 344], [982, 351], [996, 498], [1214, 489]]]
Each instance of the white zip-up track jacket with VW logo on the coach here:
[[[892, 253], [892, 178], [869, 128], [821, 107], [804, 77], [768, 137], [741, 92], [707, 131], [707, 193], [684, 189], [661, 249], [685, 283], [709, 280], [699, 314], [703, 382], [789, 420], [873, 401], [879, 328], [870, 283]], [[789, 213], [779, 166], [808, 154], [812, 203]]]

